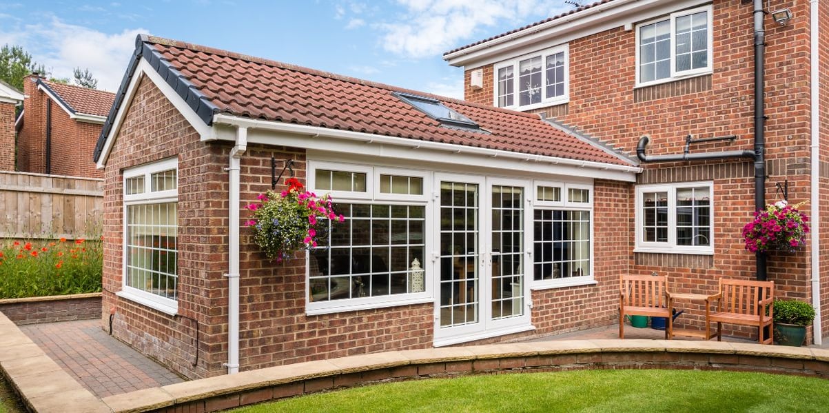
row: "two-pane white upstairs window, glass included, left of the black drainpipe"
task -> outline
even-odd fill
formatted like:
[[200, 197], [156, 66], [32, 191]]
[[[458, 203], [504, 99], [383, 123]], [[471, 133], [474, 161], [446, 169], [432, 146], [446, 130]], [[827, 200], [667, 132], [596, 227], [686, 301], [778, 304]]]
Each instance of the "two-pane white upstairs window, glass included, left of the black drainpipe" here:
[[636, 27], [636, 84], [656, 85], [713, 70], [711, 6], [671, 13]]

